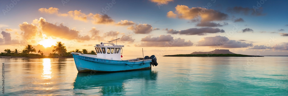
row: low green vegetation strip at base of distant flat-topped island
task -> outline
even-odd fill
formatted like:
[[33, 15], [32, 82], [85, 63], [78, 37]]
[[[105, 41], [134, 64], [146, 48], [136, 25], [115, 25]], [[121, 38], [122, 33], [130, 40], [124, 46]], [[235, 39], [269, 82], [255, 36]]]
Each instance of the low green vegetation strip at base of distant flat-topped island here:
[[177, 54], [177, 55], [165, 55], [165, 57], [263, 57], [263, 56], [243, 55], [243, 54]]

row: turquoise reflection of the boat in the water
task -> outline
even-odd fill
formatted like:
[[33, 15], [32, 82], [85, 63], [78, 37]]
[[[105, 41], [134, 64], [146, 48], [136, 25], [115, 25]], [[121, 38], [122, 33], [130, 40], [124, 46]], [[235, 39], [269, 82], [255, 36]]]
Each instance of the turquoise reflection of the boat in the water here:
[[73, 89], [75, 94], [85, 95], [135, 95], [131, 92], [133, 90], [147, 95], [149, 91], [155, 90], [156, 79], [157, 72], [151, 69], [115, 73], [78, 73]]

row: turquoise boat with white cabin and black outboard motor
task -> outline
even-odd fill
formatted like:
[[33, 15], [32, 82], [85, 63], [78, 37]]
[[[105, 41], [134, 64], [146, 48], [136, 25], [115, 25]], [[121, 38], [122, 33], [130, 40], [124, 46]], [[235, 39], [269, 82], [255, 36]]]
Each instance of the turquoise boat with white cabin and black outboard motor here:
[[121, 60], [122, 48], [124, 45], [113, 44], [113, 41], [115, 40], [109, 41], [109, 43], [101, 42], [100, 44], [96, 44], [96, 46], [94, 46], [97, 53], [96, 55], [71, 52], [78, 72], [112, 72], [151, 69], [152, 65], [158, 65], [154, 55], [151, 55], [150, 57], [143, 56], [144, 58]]

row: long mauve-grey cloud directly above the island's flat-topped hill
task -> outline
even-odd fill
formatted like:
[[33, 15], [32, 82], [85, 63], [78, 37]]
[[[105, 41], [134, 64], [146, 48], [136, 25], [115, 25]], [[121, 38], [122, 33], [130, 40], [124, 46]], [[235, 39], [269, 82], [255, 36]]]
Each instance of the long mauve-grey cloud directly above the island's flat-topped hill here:
[[230, 40], [225, 36], [215, 36], [215, 37], [204, 37], [202, 38], [197, 46], [217, 46], [219, 48], [246, 48], [253, 46], [253, 44], [247, 44], [245, 42], [239, 42], [235, 40]]

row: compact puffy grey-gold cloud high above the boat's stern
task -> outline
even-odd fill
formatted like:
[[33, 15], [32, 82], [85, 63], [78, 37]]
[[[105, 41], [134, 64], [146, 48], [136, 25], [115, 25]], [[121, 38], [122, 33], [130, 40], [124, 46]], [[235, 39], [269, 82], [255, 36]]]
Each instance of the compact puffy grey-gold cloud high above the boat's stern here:
[[148, 24], [139, 24], [135, 26], [130, 26], [127, 28], [128, 30], [132, 30], [136, 34], [148, 34], [153, 30], [153, 27]]

